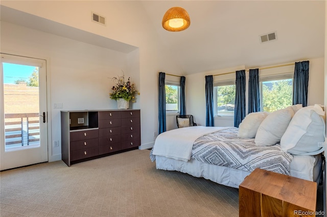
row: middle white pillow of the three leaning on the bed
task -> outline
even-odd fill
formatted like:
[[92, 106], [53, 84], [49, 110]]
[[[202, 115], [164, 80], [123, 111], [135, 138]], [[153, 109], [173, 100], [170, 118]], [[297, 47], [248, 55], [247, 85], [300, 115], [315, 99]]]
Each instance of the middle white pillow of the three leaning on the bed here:
[[279, 141], [287, 129], [294, 112], [292, 108], [284, 108], [270, 113], [260, 124], [254, 142], [256, 145], [271, 146]]

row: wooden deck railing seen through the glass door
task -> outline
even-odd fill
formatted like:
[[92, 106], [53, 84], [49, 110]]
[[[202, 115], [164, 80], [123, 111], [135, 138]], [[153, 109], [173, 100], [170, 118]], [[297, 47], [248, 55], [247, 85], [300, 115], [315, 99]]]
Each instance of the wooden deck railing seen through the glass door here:
[[39, 142], [39, 113], [5, 114], [6, 148]]

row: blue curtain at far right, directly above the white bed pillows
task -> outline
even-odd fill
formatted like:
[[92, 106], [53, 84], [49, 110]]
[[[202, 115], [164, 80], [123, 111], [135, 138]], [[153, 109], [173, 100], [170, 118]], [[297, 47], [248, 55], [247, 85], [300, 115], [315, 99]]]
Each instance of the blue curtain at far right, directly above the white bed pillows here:
[[309, 61], [295, 63], [293, 79], [293, 105], [308, 104], [308, 84], [309, 84]]

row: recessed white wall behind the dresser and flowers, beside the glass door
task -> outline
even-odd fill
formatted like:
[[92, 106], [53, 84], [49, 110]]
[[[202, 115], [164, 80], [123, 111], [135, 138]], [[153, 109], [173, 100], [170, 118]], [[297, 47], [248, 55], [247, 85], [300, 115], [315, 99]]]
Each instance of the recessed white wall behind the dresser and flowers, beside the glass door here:
[[[115, 100], [109, 98], [110, 77], [121, 75], [121, 70], [131, 78], [137, 78], [132, 81], [139, 87], [138, 73], [127, 70], [125, 53], [3, 21], [1, 32], [2, 52], [44, 58], [50, 62], [47, 71], [51, 80], [51, 107], [48, 110], [51, 111], [52, 141], [61, 140], [60, 110], [116, 108]], [[63, 103], [63, 108], [54, 108], [54, 103], [59, 102]], [[51, 159], [61, 159], [60, 147], [52, 147], [49, 151]]]

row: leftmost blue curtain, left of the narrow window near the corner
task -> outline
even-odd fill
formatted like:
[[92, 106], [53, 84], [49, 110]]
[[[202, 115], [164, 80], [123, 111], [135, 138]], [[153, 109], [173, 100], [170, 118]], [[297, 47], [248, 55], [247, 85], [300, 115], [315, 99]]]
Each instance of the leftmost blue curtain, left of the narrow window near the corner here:
[[166, 88], [164, 72], [159, 72], [159, 130], [158, 134], [166, 131]]

